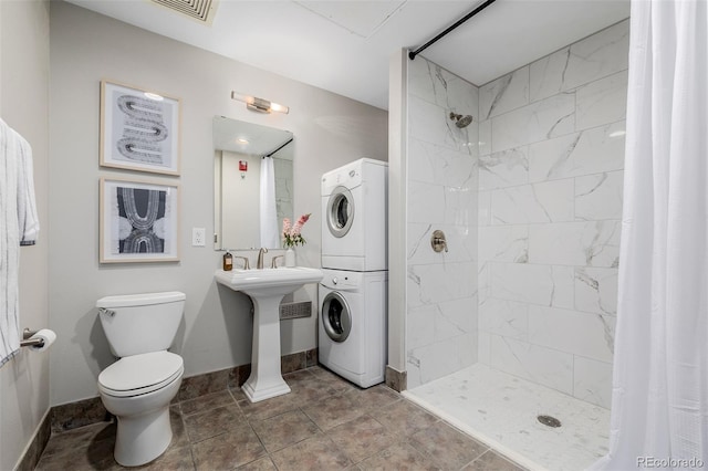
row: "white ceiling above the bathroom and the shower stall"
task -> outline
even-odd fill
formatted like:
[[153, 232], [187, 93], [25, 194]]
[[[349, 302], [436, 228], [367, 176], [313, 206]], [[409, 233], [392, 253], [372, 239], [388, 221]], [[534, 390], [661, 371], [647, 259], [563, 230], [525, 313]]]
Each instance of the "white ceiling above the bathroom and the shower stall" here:
[[[392, 55], [425, 44], [482, 3], [170, 0], [211, 1], [209, 24], [153, 0], [69, 1], [384, 109]], [[498, 0], [420, 55], [483, 85], [628, 15], [629, 0]]]

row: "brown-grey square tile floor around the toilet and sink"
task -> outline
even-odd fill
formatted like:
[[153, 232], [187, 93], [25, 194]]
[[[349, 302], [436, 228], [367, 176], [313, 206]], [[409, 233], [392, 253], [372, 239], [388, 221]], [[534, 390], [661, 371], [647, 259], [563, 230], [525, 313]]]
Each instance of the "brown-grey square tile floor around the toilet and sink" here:
[[[251, 404], [240, 389], [171, 406], [173, 442], [149, 470], [519, 471], [397, 393], [360, 389], [319, 366], [284, 375], [289, 395]], [[115, 425], [51, 437], [38, 470], [117, 470]]]

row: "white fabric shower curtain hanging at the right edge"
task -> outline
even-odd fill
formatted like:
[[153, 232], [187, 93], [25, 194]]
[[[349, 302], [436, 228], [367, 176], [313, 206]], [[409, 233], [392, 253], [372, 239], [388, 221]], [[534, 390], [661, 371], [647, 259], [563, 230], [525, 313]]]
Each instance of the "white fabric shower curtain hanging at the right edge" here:
[[611, 441], [593, 469], [708, 467], [708, 6], [633, 0]]

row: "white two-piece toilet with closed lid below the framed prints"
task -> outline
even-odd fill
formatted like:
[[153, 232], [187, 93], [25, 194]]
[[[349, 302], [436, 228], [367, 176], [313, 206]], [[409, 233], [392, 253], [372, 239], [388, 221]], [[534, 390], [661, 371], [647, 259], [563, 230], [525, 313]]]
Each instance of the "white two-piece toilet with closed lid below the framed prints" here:
[[167, 348], [185, 299], [185, 293], [174, 291], [96, 302], [111, 352], [121, 358], [98, 375], [98, 393], [118, 419], [114, 457], [124, 467], [153, 461], [173, 439], [169, 402], [179, 390], [184, 366]]

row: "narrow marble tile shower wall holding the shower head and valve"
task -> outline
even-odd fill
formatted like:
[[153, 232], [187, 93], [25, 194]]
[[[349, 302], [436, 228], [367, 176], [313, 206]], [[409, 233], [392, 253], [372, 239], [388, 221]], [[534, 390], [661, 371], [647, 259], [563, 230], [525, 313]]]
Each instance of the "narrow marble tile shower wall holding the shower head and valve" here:
[[[477, 362], [478, 107], [476, 86], [408, 61], [408, 388]], [[475, 122], [460, 129], [450, 112]], [[433, 251], [436, 229], [449, 252]]]

